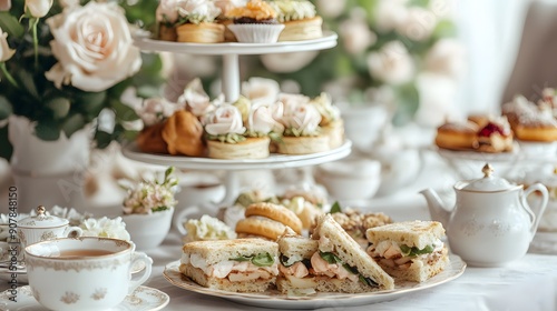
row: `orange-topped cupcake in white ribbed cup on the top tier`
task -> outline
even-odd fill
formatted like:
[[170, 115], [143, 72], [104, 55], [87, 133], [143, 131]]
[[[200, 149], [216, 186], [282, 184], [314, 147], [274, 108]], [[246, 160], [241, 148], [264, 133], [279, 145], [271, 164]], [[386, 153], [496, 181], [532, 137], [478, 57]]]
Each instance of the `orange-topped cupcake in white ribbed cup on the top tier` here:
[[235, 7], [226, 12], [232, 20], [228, 29], [240, 42], [273, 43], [284, 29], [276, 20], [276, 12], [262, 0], [251, 0], [245, 7]]

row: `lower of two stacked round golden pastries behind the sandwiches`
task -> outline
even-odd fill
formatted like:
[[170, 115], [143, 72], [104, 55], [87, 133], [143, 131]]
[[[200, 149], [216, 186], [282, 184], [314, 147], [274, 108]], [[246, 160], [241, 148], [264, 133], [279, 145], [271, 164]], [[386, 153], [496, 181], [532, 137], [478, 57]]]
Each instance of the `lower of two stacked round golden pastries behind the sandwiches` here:
[[266, 218], [251, 217], [236, 222], [236, 233], [238, 237], [258, 235], [276, 241], [285, 231], [289, 232], [292, 230], [278, 221]]

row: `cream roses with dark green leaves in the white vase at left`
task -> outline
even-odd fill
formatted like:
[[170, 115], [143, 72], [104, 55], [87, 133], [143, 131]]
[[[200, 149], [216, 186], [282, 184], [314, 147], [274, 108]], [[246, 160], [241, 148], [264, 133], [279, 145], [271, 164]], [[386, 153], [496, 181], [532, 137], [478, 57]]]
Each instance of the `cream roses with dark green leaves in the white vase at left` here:
[[[138, 117], [126, 101], [156, 96], [165, 81], [159, 56], [140, 53], [131, 38], [131, 23], [154, 26], [156, 1], [3, 3], [8, 8], [0, 9], [0, 157], [11, 156], [10, 116], [27, 118], [45, 141], [71, 137], [89, 126], [98, 148], [134, 134]], [[113, 121], [97, 122], [102, 113]]]

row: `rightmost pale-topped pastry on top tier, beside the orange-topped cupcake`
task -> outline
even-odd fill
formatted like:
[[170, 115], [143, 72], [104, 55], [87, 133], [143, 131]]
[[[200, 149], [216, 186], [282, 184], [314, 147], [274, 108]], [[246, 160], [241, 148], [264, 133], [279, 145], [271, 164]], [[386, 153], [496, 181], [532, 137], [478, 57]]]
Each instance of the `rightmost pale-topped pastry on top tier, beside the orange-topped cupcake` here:
[[300, 41], [323, 37], [323, 19], [316, 14], [315, 6], [307, 0], [274, 0], [271, 7], [276, 19], [284, 24], [278, 41]]

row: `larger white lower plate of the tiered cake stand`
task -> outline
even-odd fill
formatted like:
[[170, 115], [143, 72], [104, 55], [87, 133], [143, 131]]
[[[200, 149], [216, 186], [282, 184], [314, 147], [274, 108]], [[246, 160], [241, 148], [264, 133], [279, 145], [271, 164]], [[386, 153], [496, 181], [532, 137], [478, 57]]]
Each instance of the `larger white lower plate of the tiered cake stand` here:
[[341, 147], [311, 154], [287, 156], [272, 153], [265, 159], [241, 159], [241, 160], [222, 160], [211, 158], [196, 158], [185, 156], [155, 154], [145, 153], [137, 149], [135, 142], [124, 146], [123, 154], [127, 158], [140, 162], [174, 165], [180, 169], [195, 170], [256, 170], [256, 169], [286, 169], [300, 168], [306, 165], [321, 164], [334, 160], [342, 159], [350, 154], [352, 142], [346, 140]]

